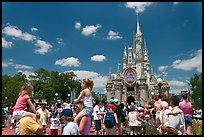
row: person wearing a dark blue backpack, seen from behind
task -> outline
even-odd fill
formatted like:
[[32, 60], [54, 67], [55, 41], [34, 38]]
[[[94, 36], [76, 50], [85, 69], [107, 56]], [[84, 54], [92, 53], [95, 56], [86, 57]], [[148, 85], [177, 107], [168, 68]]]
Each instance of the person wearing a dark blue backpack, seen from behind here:
[[104, 116], [104, 125], [106, 127], [106, 135], [115, 135], [115, 125], [118, 123], [117, 114], [113, 111], [113, 104], [108, 105], [108, 112]]

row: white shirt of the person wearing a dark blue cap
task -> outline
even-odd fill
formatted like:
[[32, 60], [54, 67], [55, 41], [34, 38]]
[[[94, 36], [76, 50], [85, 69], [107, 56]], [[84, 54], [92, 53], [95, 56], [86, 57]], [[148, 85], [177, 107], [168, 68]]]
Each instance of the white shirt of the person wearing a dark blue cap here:
[[62, 135], [80, 135], [79, 127], [74, 122], [69, 122], [63, 129]]

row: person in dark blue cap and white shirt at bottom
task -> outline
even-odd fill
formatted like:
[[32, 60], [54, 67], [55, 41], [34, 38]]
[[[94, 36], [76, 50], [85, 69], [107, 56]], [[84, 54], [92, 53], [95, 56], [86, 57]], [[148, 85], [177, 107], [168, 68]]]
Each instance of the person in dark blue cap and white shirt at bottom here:
[[64, 109], [60, 116], [65, 123], [62, 135], [80, 135], [78, 125], [73, 122], [74, 118], [71, 109]]

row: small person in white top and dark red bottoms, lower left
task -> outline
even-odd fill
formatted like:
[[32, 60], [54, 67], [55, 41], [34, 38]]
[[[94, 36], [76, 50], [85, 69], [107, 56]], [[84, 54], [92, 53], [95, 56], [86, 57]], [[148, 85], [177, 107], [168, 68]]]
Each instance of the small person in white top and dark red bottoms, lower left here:
[[52, 117], [50, 119], [50, 135], [58, 135], [59, 125], [60, 120], [57, 117], [57, 112], [53, 112]]

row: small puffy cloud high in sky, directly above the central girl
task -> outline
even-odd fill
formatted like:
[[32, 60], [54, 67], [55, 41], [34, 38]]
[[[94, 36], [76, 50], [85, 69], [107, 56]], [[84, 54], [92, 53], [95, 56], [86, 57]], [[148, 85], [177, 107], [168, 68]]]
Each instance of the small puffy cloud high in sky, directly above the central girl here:
[[87, 26], [85, 28], [82, 29], [82, 35], [84, 36], [90, 36], [90, 35], [95, 35], [96, 30], [98, 28], [101, 28], [102, 26], [100, 24], [97, 24], [96, 26], [91, 25], [91, 26]]

